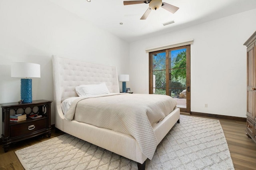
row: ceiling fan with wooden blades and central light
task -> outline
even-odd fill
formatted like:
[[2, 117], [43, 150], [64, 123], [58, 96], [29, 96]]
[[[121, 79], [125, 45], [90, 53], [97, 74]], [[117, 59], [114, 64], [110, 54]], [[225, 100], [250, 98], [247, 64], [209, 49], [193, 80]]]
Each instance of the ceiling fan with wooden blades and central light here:
[[162, 0], [132, 0], [132, 1], [124, 1], [124, 5], [132, 5], [132, 4], [149, 4], [148, 9], [143, 14], [143, 16], [140, 18], [141, 20], [146, 20], [148, 15], [150, 14], [151, 10], [157, 10], [158, 8], [162, 7], [165, 10], [168, 10], [169, 12], [172, 12], [174, 14], [179, 8], [176, 6], [173, 6], [171, 4], [167, 4], [166, 2], [162, 2]]

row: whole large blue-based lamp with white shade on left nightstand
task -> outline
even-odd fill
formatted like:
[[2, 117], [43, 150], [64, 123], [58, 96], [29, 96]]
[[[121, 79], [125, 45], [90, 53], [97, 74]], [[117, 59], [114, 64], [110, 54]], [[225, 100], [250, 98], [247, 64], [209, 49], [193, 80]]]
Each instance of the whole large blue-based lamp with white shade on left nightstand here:
[[11, 64], [11, 77], [20, 79], [20, 99], [22, 103], [32, 103], [32, 79], [40, 78], [40, 65], [36, 63]]

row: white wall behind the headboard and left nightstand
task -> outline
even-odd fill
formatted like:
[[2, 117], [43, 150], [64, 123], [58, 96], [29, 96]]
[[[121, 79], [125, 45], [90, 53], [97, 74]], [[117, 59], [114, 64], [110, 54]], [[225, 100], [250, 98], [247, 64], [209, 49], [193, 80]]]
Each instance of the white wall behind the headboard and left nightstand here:
[[53, 100], [52, 55], [129, 72], [128, 43], [48, 0], [0, 0], [0, 23], [0, 103], [20, 100], [20, 79], [10, 77], [12, 62], [40, 64], [41, 78], [32, 79], [33, 100]]

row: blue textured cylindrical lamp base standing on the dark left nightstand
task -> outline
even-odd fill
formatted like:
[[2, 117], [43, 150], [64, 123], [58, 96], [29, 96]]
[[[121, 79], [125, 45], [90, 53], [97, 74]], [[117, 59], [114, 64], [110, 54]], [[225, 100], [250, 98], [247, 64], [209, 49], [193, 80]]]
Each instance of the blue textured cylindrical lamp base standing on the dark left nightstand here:
[[20, 79], [20, 99], [32, 103], [32, 79]]

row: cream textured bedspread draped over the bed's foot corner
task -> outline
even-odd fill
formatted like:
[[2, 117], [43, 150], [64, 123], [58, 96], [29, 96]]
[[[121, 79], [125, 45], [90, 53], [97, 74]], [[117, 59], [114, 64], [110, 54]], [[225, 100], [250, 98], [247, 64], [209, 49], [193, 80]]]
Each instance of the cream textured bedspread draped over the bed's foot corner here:
[[110, 93], [72, 102], [65, 119], [132, 135], [142, 153], [152, 159], [157, 139], [152, 126], [176, 108], [167, 95]]

